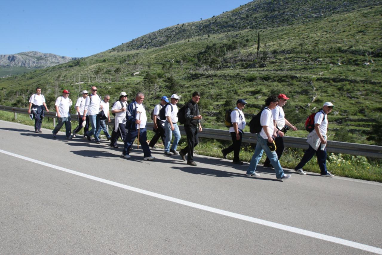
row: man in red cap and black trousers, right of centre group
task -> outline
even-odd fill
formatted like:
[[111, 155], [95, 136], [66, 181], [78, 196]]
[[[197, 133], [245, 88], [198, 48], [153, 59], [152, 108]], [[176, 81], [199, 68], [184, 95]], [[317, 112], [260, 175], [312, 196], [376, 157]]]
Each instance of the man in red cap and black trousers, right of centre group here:
[[[280, 160], [281, 155], [284, 151], [284, 141], [283, 136], [286, 131], [285, 130], [285, 124], [287, 127], [290, 127], [293, 131], [296, 131], [297, 128], [293, 126], [287, 119], [285, 119], [285, 113], [283, 110], [283, 106], [286, 104], [286, 100], [288, 100], [289, 97], [286, 97], [285, 94], [278, 95], [278, 105], [275, 109], [272, 110], [272, 117], [273, 117], [273, 124], [275, 126], [275, 130], [277, 131], [277, 136], [275, 138], [275, 145], [276, 145], [276, 154], [278, 157], [278, 160]], [[264, 167], [272, 167], [270, 164], [270, 160], [267, 157], [264, 162]]]

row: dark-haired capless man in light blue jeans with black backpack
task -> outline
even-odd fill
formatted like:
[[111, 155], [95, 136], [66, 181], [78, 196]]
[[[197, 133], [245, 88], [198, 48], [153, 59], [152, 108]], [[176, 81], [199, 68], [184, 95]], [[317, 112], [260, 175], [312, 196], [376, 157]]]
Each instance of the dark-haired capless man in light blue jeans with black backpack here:
[[283, 169], [278, 161], [277, 154], [275, 151], [271, 151], [268, 143], [274, 143], [272, 136], [276, 137], [276, 131], [274, 130], [273, 120], [272, 120], [272, 110], [278, 104], [277, 96], [269, 96], [265, 99], [265, 108], [262, 110], [260, 115], [260, 124], [262, 126], [261, 131], [257, 134], [256, 148], [253, 153], [251, 162], [246, 173], [246, 176], [258, 177], [259, 174], [256, 173], [256, 167], [259, 163], [263, 151], [267, 154], [272, 166], [275, 168], [277, 180], [286, 180], [290, 178], [290, 174], [284, 174]]

